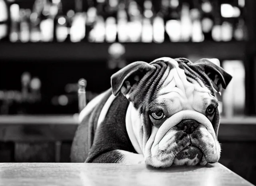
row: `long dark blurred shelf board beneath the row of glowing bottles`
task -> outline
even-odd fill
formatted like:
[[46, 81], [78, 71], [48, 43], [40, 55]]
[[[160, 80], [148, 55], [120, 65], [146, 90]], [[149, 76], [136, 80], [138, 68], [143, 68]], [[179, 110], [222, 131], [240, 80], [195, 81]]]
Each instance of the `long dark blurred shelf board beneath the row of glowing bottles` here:
[[[213, 57], [220, 60], [243, 60], [245, 42], [202, 43], [125, 43], [124, 57], [144, 59], [158, 57]], [[0, 43], [2, 60], [105, 60], [111, 43]]]

